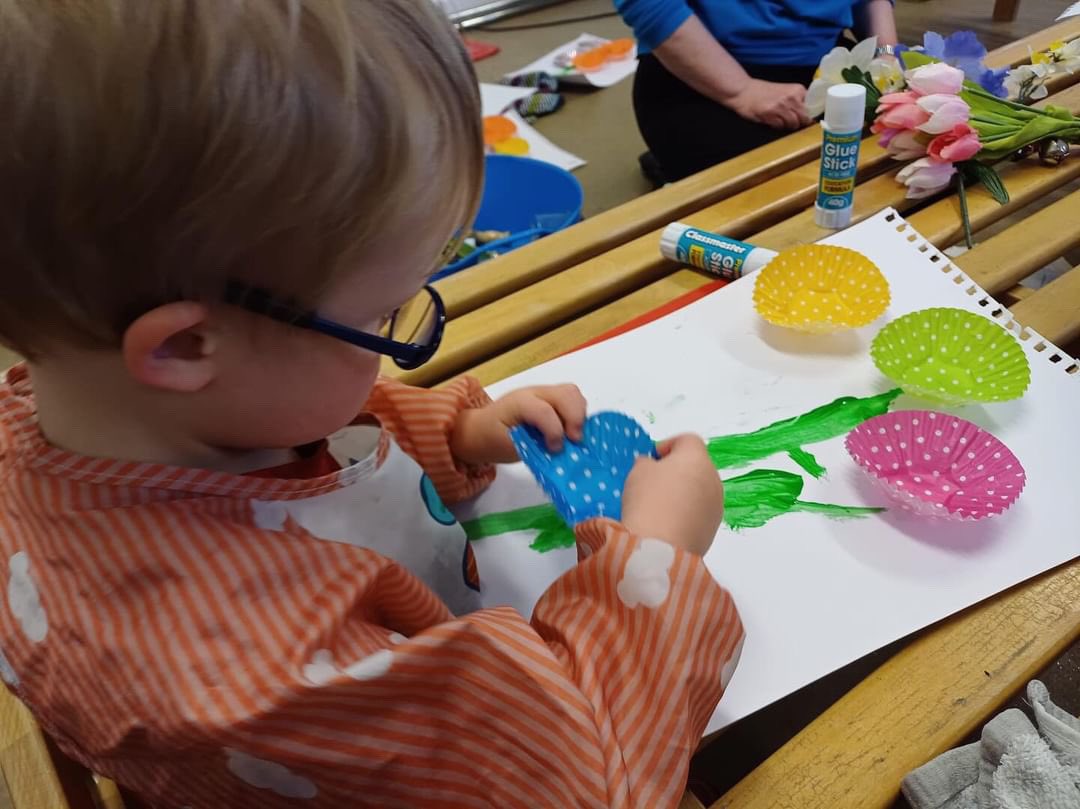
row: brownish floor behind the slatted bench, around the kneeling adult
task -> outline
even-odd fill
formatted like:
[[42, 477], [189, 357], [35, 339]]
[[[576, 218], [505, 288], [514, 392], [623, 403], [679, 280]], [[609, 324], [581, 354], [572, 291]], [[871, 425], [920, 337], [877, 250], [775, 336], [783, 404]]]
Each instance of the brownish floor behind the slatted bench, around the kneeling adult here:
[[[1012, 42], [1050, 25], [1066, 6], [1065, 0], [1023, 0], [1013, 23], [993, 23], [994, 0], [897, 0], [901, 39], [918, 43], [923, 31], [948, 33], [975, 30], [988, 49]], [[496, 56], [476, 63], [482, 81], [497, 82], [558, 45], [588, 32], [599, 37], [626, 37], [630, 30], [617, 16], [554, 25], [561, 19], [610, 14], [611, 0], [569, 0], [472, 29], [469, 36], [499, 45]], [[527, 30], [495, 30], [543, 25]], [[637, 133], [631, 108], [633, 78], [606, 90], [566, 90], [566, 105], [539, 120], [537, 129], [556, 145], [588, 161], [575, 174], [585, 189], [584, 215], [591, 216], [650, 190], [637, 157], [645, 144]], [[723, 133], [717, 133], [720, 137]]]

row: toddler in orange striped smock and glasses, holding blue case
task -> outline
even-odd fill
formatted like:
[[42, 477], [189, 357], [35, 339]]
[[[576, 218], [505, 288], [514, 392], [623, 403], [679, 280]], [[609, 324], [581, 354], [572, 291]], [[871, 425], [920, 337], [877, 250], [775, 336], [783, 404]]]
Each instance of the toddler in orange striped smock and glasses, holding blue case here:
[[701, 441], [527, 620], [444, 503], [581, 394], [378, 377], [482, 186], [436, 6], [0, 0], [0, 676], [60, 749], [156, 808], [675, 806], [742, 641]]

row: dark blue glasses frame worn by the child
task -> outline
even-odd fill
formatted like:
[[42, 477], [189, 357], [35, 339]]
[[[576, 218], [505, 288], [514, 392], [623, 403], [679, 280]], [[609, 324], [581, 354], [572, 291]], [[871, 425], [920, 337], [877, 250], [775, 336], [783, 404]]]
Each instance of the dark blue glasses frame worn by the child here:
[[[402, 342], [382, 335], [361, 332], [323, 318], [316, 312], [298, 307], [288, 300], [276, 298], [266, 289], [239, 282], [229, 283], [226, 291], [226, 301], [248, 312], [287, 323], [297, 328], [318, 332], [351, 346], [389, 356], [403, 370], [413, 370], [435, 355], [443, 341], [443, 331], [446, 327], [446, 306], [443, 304], [443, 298], [430, 284], [424, 285], [423, 292], [431, 296], [431, 302], [435, 307], [434, 328], [431, 337], [423, 343]], [[400, 309], [394, 310], [390, 318], [390, 334], [394, 333], [394, 324], [397, 322], [400, 311]]]

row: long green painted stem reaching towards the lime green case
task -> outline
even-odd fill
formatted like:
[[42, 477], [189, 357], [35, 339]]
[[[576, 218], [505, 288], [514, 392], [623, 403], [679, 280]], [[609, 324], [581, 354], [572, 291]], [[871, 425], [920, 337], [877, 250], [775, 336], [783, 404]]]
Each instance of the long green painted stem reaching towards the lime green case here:
[[888, 413], [902, 392], [896, 388], [866, 399], [842, 396], [752, 433], [710, 439], [708, 455], [717, 469], [737, 469], [778, 453], [788, 453], [808, 474], [821, 477], [825, 469], [802, 447], [843, 435], [866, 419]]

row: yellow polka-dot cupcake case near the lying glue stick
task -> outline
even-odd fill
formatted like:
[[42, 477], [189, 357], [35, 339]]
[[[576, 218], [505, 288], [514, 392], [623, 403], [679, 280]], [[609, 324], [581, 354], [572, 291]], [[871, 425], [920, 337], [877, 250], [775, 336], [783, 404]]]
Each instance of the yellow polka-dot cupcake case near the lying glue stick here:
[[758, 314], [778, 326], [816, 334], [873, 323], [889, 300], [889, 282], [873, 261], [828, 244], [784, 251], [754, 282]]

